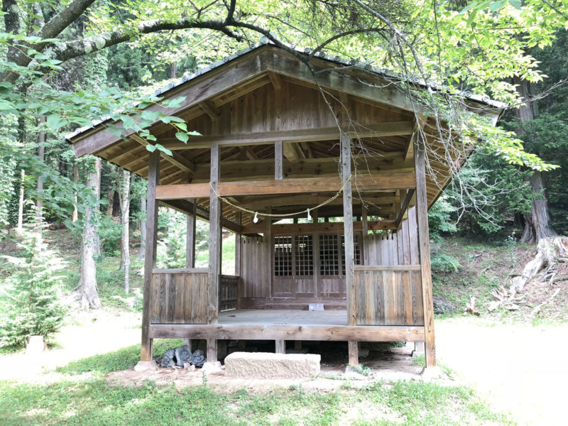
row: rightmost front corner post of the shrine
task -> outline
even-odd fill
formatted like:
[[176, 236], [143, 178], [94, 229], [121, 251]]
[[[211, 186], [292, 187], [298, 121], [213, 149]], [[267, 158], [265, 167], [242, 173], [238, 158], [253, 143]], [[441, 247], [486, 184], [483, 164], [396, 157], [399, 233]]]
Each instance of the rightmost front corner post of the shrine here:
[[432, 272], [430, 271], [430, 233], [428, 230], [428, 199], [426, 193], [426, 148], [422, 137], [414, 140], [414, 168], [416, 173], [416, 217], [420, 273], [422, 276], [422, 303], [424, 305], [424, 332], [426, 366], [436, 365], [434, 334], [434, 305], [432, 301]]

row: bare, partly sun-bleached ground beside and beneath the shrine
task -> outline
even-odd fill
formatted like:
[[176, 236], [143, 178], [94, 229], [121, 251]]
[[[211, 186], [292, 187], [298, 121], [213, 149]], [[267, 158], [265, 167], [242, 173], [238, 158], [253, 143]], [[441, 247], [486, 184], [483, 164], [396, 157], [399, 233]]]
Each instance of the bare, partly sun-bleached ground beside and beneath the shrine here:
[[[75, 324], [65, 327], [58, 336], [60, 346], [40, 356], [22, 354], [0, 356], [0, 380], [50, 383], [63, 378], [53, 372], [55, 366], [93, 354], [114, 351], [138, 343], [139, 314], [113, 312], [83, 313]], [[564, 425], [561, 418], [568, 383], [568, 324], [552, 326], [498, 324], [483, 318], [461, 317], [436, 322], [439, 364], [452, 370], [452, 377], [442, 383], [465, 383], [484, 395], [492, 405], [518, 419], [519, 425]], [[368, 375], [345, 374], [346, 345], [313, 346], [320, 351], [322, 372], [312, 380], [260, 381], [226, 378], [224, 372], [207, 376], [207, 385], [219, 391], [251, 388], [267, 391], [274, 387], [302, 384], [305, 389], [332, 391], [344, 386], [359, 387], [376, 381], [420, 380], [420, 366], [413, 365], [411, 346], [388, 349], [371, 346], [364, 366]], [[153, 373], [136, 373], [133, 369], [116, 371], [107, 376], [109, 386], [129, 386], [145, 379], [176, 386], [203, 383], [202, 372], [163, 369]]]

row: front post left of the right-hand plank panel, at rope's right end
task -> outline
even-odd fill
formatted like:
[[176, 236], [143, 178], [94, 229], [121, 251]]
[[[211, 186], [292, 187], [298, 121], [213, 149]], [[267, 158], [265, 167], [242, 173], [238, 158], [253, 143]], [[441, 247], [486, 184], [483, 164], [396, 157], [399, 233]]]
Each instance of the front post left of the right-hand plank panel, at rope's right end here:
[[[347, 324], [356, 325], [357, 302], [355, 294], [355, 253], [353, 244], [353, 195], [351, 193], [351, 138], [341, 135], [342, 149], [342, 183], [343, 189], [343, 220], [345, 234], [345, 288], [347, 293]], [[349, 364], [359, 365], [357, 342], [349, 341]]]

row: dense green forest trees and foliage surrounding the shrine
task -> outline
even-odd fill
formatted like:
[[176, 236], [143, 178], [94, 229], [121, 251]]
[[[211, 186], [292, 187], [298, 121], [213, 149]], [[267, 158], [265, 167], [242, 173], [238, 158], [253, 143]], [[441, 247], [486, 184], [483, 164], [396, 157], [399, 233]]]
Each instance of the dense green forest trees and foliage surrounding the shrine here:
[[[498, 129], [461, 124], [479, 142], [430, 210], [435, 273], [463, 263], [444, 249], [450, 237], [510, 247], [568, 232], [566, 1], [4, 0], [2, 16], [4, 346], [60, 327], [64, 293], [101, 307], [105, 258], [120, 258], [119, 287], [128, 294], [131, 253], [143, 253], [146, 183], [111, 163], [75, 158], [64, 135], [111, 116], [155, 149], [146, 121], [129, 114], [160, 102], [156, 88], [261, 37], [435, 82], [445, 91], [430, 91], [426, 102], [442, 115], [453, 114], [459, 91], [508, 105]], [[175, 118], [159, 119], [177, 126], [180, 140], [192, 136]], [[71, 265], [44, 242], [60, 229], [79, 248]], [[163, 211], [159, 231], [160, 265], [184, 264], [185, 218]], [[207, 249], [206, 234], [200, 222], [198, 250]], [[60, 273], [70, 269], [80, 273]]]

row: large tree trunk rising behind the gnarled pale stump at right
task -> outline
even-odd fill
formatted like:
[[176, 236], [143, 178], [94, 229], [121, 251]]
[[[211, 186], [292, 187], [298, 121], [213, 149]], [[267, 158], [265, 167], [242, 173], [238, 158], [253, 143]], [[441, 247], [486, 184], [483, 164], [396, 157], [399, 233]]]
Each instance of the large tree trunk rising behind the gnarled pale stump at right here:
[[[526, 101], [521, 104], [517, 116], [522, 123], [535, 119], [537, 113], [534, 101], [530, 101], [530, 87], [526, 80], [515, 78], [515, 84], [518, 84], [518, 92]], [[538, 242], [549, 236], [557, 236], [558, 234], [549, 225], [550, 214], [548, 214], [548, 202], [546, 199], [545, 186], [542, 183], [542, 173], [535, 170], [530, 178], [530, 186], [534, 196], [532, 197], [530, 213], [524, 214], [525, 231], [520, 239], [522, 243]]]

